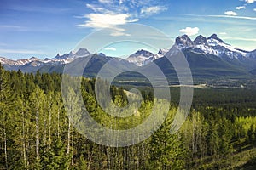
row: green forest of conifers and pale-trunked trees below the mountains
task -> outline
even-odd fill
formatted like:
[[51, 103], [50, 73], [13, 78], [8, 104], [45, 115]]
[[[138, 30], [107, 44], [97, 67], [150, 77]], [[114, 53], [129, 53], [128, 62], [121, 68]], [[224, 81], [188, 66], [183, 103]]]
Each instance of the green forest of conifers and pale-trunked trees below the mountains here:
[[[61, 96], [61, 77], [5, 71], [0, 65], [0, 169], [256, 167], [256, 89], [195, 89], [186, 122], [171, 134], [179, 93], [172, 88], [170, 111], [150, 138], [131, 146], [109, 147], [91, 142], [73, 127]], [[81, 92], [86, 109], [102, 125], [134, 127], [150, 114], [154, 96], [142, 88], [143, 101], [136, 114], [119, 120], [108, 116], [96, 102], [94, 83], [83, 77]], [[111, 87], [116, 105], [127, 104], [126, 90]], [[70, 93], [75, 91], [70, 89]]]

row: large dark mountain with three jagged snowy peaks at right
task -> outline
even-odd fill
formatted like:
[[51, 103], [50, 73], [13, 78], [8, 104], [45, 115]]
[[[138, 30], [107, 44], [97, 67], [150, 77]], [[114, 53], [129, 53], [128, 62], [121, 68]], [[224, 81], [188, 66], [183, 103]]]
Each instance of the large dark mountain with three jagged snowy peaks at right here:
[[[194, 78], [251, 77], [250, 71], [256, 68], [256, 50], [235, 48], [216, 34], [200, 35], [194, 41], [183, 35], [176, 38], [175, 46], [183, 51]], [[164, 60], [156, 62], [163, 65]]]

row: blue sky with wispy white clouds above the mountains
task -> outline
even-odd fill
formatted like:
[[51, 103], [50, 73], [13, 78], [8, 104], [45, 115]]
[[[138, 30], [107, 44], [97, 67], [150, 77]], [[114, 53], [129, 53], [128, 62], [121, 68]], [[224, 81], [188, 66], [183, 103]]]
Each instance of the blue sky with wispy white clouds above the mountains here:
[[[108, 31], [96, 38], [98, 42], [131, 37], [126, 26], [132, 24], [150, 26], [172, 42], [183, 34], [195, 39], [216, 33], [237, 48], [256, 48], [256, 0], [1, 0], [0, 56], [53, 58], [73, 51], [102, 29]], [[133, 31], [143, 34], [143, 29]], [[151, 37], [158, 38], [154, 33]], [[165, 41], [155, 43], [157, 48], [172, 47]], [[141, 48], [157, 53], [155, 47], [109, 42], [98, 52], [125, 57]]]

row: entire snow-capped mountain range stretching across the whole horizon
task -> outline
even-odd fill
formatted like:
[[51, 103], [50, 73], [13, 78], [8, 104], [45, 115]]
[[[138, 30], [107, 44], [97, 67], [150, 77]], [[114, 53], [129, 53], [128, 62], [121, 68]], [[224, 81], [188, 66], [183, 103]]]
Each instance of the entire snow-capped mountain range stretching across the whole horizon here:
[[[216, 34], [210, 37], [198, 36], [191, 40], [187, 35], [179, 36], [173, 47], [180, 49], [186, 59], [195, 81], [206, 82], [212, 79], [223, 80], [227, 78], [252, 79], [256, 76], [256, 49], [247, 51], [235, 48], [220, 39]], [[165, 54], [170, 49], [160, 49], [158, 54], [140, 49], [131, 54], [127, 59], [113, 58], [105, 54], [90, 54], [85, 48], [68, 54], [57, 54], [52, 59], [11, 60], [0, 57], [1, 64], [7, 70], [19, 70], [24, 72], [62, 72], [64, 65], [81, 63], [84, 59], [90, 61], [84, 70], [84, 76], [95, 77], [103, 65], [111, 60], [109, 71], [143, 70], [150, 69], [156, 64], [164, 72], [169, 80], [177, 77], [172, 64], [166, 59]], [[137, 77], [134, 74], [124, 74], [124, 77]], [[177, 80], [177, 78], [176, 78]]]

